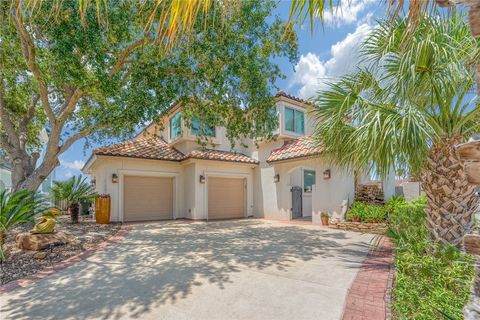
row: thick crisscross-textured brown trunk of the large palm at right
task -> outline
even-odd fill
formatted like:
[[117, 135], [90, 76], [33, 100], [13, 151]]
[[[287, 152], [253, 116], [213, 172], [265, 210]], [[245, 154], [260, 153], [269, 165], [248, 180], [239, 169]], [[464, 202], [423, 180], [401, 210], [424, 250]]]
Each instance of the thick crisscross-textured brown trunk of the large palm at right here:
[[443, 137], [434, 143], [423, 173], [426, 224], [431, 238], [439, 243], [459, 245], [478, 210], [475, 187], [468, 183], [454, 149], [461, 142], [462, 137]]

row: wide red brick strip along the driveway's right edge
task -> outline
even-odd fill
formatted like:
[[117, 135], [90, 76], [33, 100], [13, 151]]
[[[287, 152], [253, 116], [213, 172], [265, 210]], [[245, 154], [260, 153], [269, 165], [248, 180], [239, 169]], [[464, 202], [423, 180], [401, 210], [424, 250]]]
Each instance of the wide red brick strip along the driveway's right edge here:
[[348, 290], [343, 320], [387, 319], [392, 249], [390, 241], [384, 238], [380, 247], [365, 258]]

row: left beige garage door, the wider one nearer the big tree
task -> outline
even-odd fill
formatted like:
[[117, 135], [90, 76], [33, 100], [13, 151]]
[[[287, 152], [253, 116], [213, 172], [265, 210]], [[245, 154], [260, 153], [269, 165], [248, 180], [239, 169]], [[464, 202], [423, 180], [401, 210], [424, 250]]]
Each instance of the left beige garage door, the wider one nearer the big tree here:
[[125, 176], [124, 221], [173, 219], [173, 178]]

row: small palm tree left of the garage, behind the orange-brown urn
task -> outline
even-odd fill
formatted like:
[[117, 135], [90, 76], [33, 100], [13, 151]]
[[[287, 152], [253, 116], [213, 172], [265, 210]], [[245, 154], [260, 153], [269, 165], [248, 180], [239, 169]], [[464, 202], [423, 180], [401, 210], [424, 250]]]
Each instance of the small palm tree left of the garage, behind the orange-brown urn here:
[[53, 182], [52, 197], [55, 200], [65, 200], [67, 202], [72, 223], [78, 223], [80, 202], [91, 201], [97, 196], [95, 188], [86, 182], [86, 179], [82, 176], [73, 176], [66, 181]]

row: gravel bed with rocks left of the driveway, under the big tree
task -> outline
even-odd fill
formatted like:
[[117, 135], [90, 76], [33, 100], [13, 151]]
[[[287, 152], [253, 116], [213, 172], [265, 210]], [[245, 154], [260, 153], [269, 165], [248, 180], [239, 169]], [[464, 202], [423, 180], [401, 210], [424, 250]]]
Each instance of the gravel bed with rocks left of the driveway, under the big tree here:
[[[120, 230], [120, 224], [96, 224], [91, 218], [80, 218], [78, 224], [71, 224], [67, 215], [58, 218], [56, 231], [63, 231], [71, 239], [68, 244], [53, 247], [52, 250], [23, 251], [15, 244], [15, 236], [19, 232], [25, 232], [31, 226], [23, 226], [12, 230], [6, 241], [7, 259], [0, 264], [0, 284], [21, 279], [34, 274], [57, 262], [70, 258], [84, 250], [95, 247], [99, 242], [105, 241]], [[46, 255], [39, 259], [39, 252]], [[37, 258], [35, 258], [37, 254]]]

